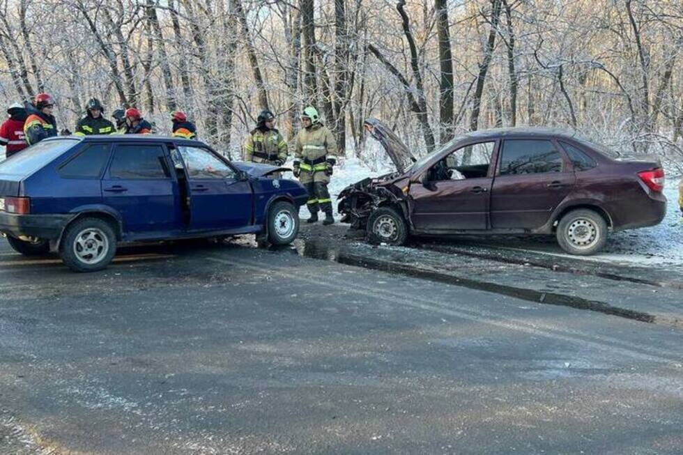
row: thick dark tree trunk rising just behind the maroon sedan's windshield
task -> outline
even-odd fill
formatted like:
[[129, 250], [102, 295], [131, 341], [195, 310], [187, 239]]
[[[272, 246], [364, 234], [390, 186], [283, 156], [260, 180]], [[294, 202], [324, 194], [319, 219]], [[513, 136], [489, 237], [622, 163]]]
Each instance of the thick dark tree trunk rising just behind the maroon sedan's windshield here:
[[441, 119], [440, 139], [441, 144], [452, 136], [453, 124], [453, 56], [451, 53], [451, 38], [448, 29], [448, 2], [436, 0], [436, 13], [438, 15], [436, 28], [439, 40], [439, 62], [441, 69], [440, 81], [440, 105], [439, 114]]

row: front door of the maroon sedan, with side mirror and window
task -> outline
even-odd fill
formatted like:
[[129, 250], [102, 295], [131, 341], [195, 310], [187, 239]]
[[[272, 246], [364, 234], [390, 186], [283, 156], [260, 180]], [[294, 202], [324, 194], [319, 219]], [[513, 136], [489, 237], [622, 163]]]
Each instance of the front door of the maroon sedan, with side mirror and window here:
[[410, 185], [417, 231], [487, 229], [495, 148], [496, 141], [458, 148]]

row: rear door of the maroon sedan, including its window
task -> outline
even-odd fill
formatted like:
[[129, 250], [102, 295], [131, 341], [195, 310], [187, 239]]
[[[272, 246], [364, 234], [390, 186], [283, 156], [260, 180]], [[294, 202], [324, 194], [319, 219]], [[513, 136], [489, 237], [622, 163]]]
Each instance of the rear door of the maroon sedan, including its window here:
[[551, 139], [505, 139], [491, 191], [494, 229], [535, 229], [574, 188], [576, 178]]

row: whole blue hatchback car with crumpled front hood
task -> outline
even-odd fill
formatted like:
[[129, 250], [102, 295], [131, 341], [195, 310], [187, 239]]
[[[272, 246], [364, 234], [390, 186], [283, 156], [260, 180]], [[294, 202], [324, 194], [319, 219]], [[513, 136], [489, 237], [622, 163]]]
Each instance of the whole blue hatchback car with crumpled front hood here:
[[175, 137], [46, 139], [0, 163], [0, 233], [78, 272], [105, 268], [120, 242], [255, 233], [286, 245], [308, 196], [271, 178], [283, 170]]

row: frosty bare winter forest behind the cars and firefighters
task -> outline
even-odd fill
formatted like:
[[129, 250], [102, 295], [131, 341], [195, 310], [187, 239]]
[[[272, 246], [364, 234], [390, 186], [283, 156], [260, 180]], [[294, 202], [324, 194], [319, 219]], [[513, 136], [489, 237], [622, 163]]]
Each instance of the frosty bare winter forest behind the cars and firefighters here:
[[364, 159], [374, 116], [426, 153], [455, 134], [569, 128], [683, 170], [680, 0], [0, 0], [0, 100], [89, 98], [233, 157], [261, 109], [314, 105]]

